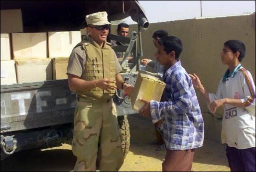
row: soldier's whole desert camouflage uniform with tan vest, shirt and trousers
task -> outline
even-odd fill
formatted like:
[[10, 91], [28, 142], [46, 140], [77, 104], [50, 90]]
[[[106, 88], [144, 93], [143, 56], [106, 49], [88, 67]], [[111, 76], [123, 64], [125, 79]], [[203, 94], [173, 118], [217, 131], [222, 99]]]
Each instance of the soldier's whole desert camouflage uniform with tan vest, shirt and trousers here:
[[[104, 15], [104, 12], [99, 12], [96, 18], [103, 16], [107, 20], [107, 15]], [[75, 71], [81, 66], [83, 73], [80, 75]], [[87, 37], [71, 53], [67, 73], [92, 81], [102, 78], [116, 80], [120, 71], [122, 68], [111, 44], [105, 42], [101, 48]], [[112, 99], [114, 94], [114, 90], [109, 93], [101, 88], [77, 91], [72, 140], [72, 151], [77, 157], [74, 171], [96, 171], [97, 162], [100, 171], [118, 171], [123, 165], [117, 110]]]

